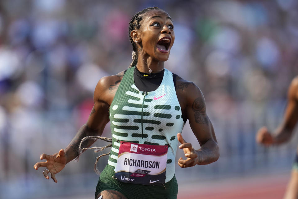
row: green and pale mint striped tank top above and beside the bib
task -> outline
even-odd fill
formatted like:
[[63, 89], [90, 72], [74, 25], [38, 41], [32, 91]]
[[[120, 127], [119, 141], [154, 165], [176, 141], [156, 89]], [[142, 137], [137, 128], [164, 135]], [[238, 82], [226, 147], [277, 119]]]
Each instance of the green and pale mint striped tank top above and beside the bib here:
[[175, 173], [177, 133], [184, 126], [173, 74], [165, 69], [160, 86], [144, 92], [134, 84], [134, 68], [125, 72], [110, 106], [112, 149], [108, 164], [115, 171], [120, 141], [169, 146], [165, 180], [168, 182]]

